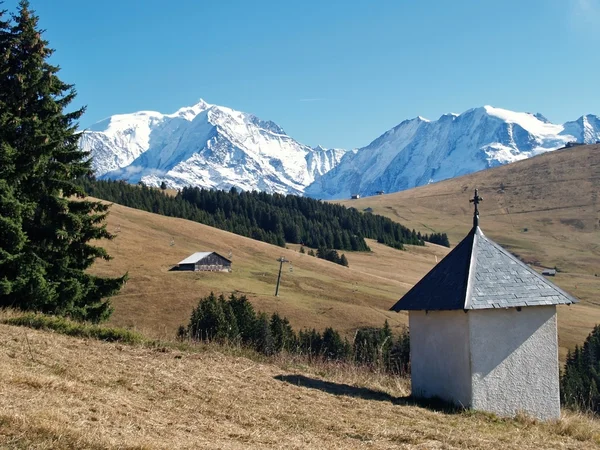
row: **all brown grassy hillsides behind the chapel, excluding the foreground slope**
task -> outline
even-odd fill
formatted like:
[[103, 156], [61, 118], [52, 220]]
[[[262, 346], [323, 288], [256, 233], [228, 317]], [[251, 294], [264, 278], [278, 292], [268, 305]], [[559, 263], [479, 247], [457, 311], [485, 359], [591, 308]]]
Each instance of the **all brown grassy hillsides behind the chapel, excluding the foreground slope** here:
[[[600, 323], [599, 185], [600, 146], [586, 146], [344, 203], [372, 208], [420, 231], [447, 232], [455, 245], [471, 226], [468, 199], [479, 188], [484, 232], [538, 269], [557, 266], [560, 272], [552, 281], [582, 300], [559, 308], [564, 358], [567, 348], [581, 343]], [[187, 322], [198, 298], [210, 291], [244, 293], [257, 308], [287, 316], [295, 328], [333, 326], [351, 338], [357, 327], [381, 326], [386, 319], [399, 327], [406, 315], [391, 313], [389, 307], [448, 252], [429, 244], [399, 251], [370, 241], [370, 253], [346, 252], [350, 268], [344, 268], [301, 254], [299, 246], [282, 249], [116, 204], [108, 224], [117, 238], [102, 245], [114, 259], [99, 262], [94, 270], [130, 275], [114, 298], [111, 323], [163, 339]], [[169, 270], [205, 250], [225, 256], [231, 251], [233, 272]], [[292, 263], [284, 266], [280, 296], [275, 297], [279, 256]]]

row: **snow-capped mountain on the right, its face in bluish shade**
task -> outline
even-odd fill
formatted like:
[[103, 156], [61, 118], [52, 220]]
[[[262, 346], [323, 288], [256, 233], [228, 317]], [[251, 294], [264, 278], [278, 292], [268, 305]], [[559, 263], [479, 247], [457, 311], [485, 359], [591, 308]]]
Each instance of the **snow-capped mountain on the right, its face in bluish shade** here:
[[407, 120], [342, 161], [304, 193], [323, 199], [395, 192], [600, 140], [600, 118], [555, 125], [541, 114], [484, 106], [438, 120]]

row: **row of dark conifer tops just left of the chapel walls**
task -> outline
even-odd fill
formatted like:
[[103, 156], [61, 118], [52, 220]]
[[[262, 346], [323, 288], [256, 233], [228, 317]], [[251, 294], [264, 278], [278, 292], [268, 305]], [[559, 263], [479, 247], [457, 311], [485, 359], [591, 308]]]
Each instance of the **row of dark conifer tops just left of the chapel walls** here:
[[323, 333], [304, 329], [296, 333], [287, 318], [273, 313], [269, 318], [255, 311], [245, 295], [210, 295], [200, 299], [187, 327], [179, 327], [178, 338], [233, 343], [265, 354], [286, 351], [329, 361], [352, 362], [391, 373], [409, 372], [408, 331], [398, 337], [385, 322], [383, 328], [361, 328], [353, 342], [329, 327]]

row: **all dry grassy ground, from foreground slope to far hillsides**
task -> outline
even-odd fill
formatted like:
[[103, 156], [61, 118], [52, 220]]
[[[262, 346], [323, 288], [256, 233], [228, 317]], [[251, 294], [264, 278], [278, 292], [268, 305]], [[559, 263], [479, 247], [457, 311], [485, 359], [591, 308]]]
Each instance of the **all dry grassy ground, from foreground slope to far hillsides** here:
[[[600, 148], [557, 151], [397, 194], [346, 202], [420, 231], [468, 231], [474, 187], [481, 226], [582, 302], [559, 308], [559, 338], [580, 343], [600, 323]], [[114, 259], [94, 271], [129, 272], [110, 325], [172, 340], [210, 291], [247, 294], [295, 328], [406, 322], [388, 308], [448, 249], [398, 251], [369, 242], [346, 253], [350, 268], [201, 224], [114, 205]], [[527, 231], [525, 231], [527, 229]], [[174, 245], [171, 245], [173, 243]], [[232, 273], [170, 271], [192, 252], [233, 253]], [[285, 266], [275, 297], [279, 256]], [[7, 312], [1, 313], [8, 314]], [[1, 317], [0, 317], [1, 318]], [[565, 411], [535, 423], [439, 410], [408, 398], [398, 377], [280, 356], [264, 359], [211, 345], [124, 345], [0, 325], [0, 448], [411, 448], [587, 449], [600, 421]]]

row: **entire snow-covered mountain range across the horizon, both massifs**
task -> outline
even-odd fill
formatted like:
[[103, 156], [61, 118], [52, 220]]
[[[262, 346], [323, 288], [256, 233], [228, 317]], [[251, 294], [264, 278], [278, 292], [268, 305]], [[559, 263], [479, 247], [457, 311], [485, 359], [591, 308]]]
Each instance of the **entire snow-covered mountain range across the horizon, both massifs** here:
[[485, 105], [407, 119], [352, 150], [309, 147], [275, 122], [204, 100], [172, 114], [108, 117], [82, 133], [100, 178], [322, 199], [396, 192], [600, 140], [600, 118], [553, 124], [541, 113]]

